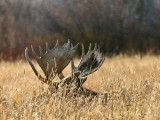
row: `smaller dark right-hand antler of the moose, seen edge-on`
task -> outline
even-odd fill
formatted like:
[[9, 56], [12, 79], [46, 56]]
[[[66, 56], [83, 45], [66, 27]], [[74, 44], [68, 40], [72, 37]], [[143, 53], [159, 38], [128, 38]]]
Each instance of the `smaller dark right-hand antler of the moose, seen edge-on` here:
[[[78, 67], [74, 66], [74, 62], [71, 61], [72, 71], [81, 71], [80, 77], [86, 77], [87, 75], [97, 71], [104, 62], [104, 57], [100, 53], [100, 46], [95, 44], [94, 50], [91, 50], [91, 44], [89, 50], [85, 55], [84, 45], [82, 44], [82, 56]], [[98, 48], [97, 48], [98, 47]]]

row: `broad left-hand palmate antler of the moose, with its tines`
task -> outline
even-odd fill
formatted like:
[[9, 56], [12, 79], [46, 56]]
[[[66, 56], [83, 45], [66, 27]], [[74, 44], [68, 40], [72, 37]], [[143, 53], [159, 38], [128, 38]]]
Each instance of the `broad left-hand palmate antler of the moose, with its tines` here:
[[73, 47], [70, 41], [68, 41], [68, 43], [65, 43], [63, 46], [60, 46], [59, 41], [57, 40], [55, 47], [53, 49], [49, 49], [48, 43], [46, 43], [45, 53], [42, 52], [42, 49], [39, 46], [40, 57], [36, 55], [34, 48], [31, 45], [32, 53], [36, 58], [37, 63], [43, 70], [46, 78], [43, 78], [40, 74], [38, 74], [33, 63], [28, 57], [28, 48], [25, 49], [25, 57], [36, 76], [43, 82], [49, 84], [57, 74], [60, 77], [60, 79], [64, 78], [62, 70], [69, 64], [71, 59], [74, 57], [78, 45], [79, 43]]

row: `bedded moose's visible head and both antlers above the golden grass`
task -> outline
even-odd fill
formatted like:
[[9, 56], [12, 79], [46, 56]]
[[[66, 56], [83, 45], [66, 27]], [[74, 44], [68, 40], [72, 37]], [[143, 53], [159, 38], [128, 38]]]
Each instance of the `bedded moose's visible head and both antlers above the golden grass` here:
[[[28, 48], [25, 50], [25, 57], [36, 76], [44, 83], [50, 85], [51, 92], [52, 88], [54, 89], [54, 87], [58, 89], [59, 87], [71, 85], [74, 83], [77, 91], [78, 89], [81, 89], [82, 93], [85, 93], [87, 96], [96, 96], [98, 93], [85, 89], [82, 87], [82, 85], [86, 81], [87, 75], [97, 71], [101, 67], [104, 62], [104, 57], [102, 53], [100, 53], [99, 45], [95, 44], [95, 47], [92, 50], [92, 46], [90, 44], [89, 50], [87, 54], [85, 54], [84, 45], [82, 44], [81, 61], [79, 65], [75, 67], [73, 57], [78, 46], [79, 43], [73, 47], [70, 41], [65, 43], [63, 46], [60, 46], [59, 42], [57, 41], [55, 47], [53, 49], [49, 49], [48, 43], [46, 43], [46, 52], [43, 53], [41, 47], [39, 47], [40, 57], [38, 57], [34, 51], [33, 46], [31, 45], [32, 53], [36, 58], [39, 66], [43, 70], [46, 78], [43, 78], [40, 74], [38, 74], [33, 63], [28, 57]], [[68, 77], [64, 77], [62, 71], [69, 64], [69, 62], [71, 62], [71, 74]], [[61, 81], [58, 83], [52, 82], [52, 79], [54, 79], [56, 75], [58, 75], [61, 79]]]

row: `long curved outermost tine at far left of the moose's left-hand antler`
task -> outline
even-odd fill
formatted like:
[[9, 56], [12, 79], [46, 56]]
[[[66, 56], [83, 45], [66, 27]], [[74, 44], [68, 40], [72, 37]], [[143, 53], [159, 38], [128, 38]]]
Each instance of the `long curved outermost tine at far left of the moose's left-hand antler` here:
[[30, 64], [32, 70], [34, 71], [35, 75], [43, 82], [46, 81], [45, 78], [43, 78], [40, 74], [38, 74], [36, 68], [34, 67], [33, 63], [31, 62], [30, 58], [28, 57], [28, 48], [25, 49], [25, 57], [26, 57], [26, 60], [27, 62]]

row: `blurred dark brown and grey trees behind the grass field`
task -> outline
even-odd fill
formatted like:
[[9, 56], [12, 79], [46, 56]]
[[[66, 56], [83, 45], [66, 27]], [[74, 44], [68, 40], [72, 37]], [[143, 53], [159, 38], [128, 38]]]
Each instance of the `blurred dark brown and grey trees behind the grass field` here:
[[[105, 55], [159, 54], [160, 0], [1, 0], [0, 54], [23, 56], [59, 39], [100, 44]], [[80, 54], [80, 49], [78, 50]]]

